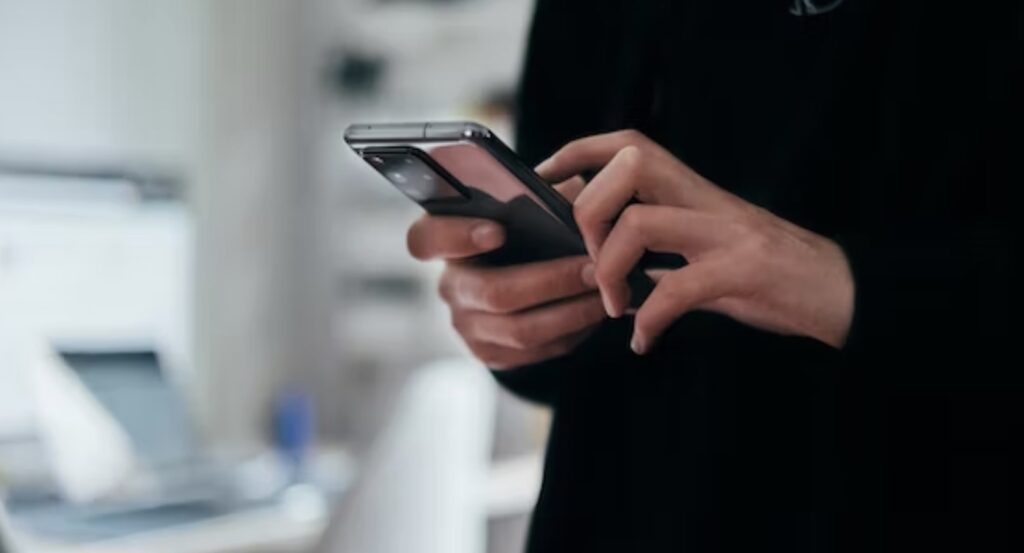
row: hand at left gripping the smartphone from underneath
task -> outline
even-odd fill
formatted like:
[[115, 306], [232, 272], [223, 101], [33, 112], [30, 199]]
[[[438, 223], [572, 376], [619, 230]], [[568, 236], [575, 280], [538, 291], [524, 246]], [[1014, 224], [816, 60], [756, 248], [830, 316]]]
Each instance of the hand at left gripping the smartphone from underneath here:
[[[570, 200], [582, 179], [557, 186]], [[505, 241], [484, 219], [425, 215], [409, 230], [418, 259], [443, 259], [440, 295], [452, 324], [476, 357], [492, 369], [539, 363], [570, 352], [605, 318], [587, 256], [508, 267], [485, 267], [472, 256]]]

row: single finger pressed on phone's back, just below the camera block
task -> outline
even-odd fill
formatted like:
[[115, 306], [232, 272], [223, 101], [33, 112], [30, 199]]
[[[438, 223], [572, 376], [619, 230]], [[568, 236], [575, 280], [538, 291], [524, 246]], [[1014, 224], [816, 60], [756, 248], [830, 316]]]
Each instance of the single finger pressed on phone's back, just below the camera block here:
[[424, 215], [409, 228], [406, 242], [417, 259], [463, 259], [501, 247], [505, 229], [486, 219]]

